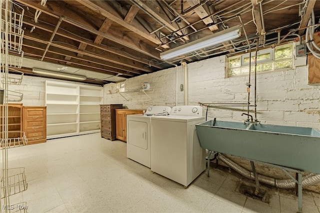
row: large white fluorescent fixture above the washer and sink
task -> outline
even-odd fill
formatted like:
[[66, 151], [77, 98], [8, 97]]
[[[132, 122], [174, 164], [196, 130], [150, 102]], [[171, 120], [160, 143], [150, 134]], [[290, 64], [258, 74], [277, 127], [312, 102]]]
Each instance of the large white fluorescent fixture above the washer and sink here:
[[215, 44], [240, 37], [240, 35], [241, 35], [241, 27], [240, 25], [236, 25], [228, 29], [216, 32], [212, 35], [200, 38], [195, 41], [191, 41], [189, 43], [186, 43], [181, 46], [162, 52], [160, 53], [160, 58], [162, 60], [174, 58], [176, 56], [183, 55], [188, 52], [203, 49], [205, 47], [213, 46]]

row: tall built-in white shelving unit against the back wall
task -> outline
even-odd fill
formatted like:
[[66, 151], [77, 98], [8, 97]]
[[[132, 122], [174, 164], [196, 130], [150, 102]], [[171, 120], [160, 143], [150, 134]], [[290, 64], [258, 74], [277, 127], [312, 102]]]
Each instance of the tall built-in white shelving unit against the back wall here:
[[47, 139], [100, 132], [103, 88], [45, 82]]

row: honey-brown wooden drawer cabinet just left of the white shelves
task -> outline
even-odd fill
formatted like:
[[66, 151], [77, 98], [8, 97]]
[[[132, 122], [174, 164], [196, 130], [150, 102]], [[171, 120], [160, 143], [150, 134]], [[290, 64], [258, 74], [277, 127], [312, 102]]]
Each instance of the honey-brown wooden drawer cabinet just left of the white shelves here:
[[46, 142], [45, 106], [23, 106], [23, 132], [28, 144]]

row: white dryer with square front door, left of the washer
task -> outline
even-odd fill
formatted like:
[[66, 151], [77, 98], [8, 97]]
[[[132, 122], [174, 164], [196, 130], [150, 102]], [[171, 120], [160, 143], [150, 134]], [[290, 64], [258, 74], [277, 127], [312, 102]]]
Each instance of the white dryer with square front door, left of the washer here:
[[167, 116], [168, 106], [150, 106], [143, 115], [126, 116], [126, 157], [150, 168], [151, 118]]

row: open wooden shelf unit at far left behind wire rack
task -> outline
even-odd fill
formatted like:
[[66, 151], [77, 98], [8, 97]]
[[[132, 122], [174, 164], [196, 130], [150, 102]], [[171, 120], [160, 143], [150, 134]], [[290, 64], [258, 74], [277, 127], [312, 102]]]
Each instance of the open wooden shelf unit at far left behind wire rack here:
[[[2, 120], [2, 112], [3, 112], [3, 105], [0, 106], [0, 122], [1, 127], [0, 131], [2, 133], [2, 127], [3, 127], [3, 120]], [[8, 138], [20, 138], [22, 137], [22, 104], [8, 104]], [[1, 135], [1, 138], [4, 138]]]

